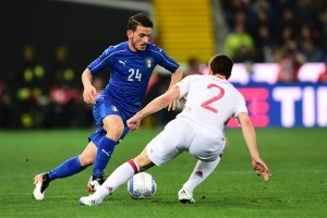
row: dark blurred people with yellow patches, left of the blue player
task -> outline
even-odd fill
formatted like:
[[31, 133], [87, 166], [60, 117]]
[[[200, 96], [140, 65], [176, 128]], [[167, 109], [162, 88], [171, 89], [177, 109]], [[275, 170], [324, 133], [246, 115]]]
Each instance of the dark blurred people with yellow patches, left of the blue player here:
[[[82, 100], [81, 75], [70, 66], [68, 48], [55, 48], [49, 66], [38, 62], [36, 51], [24, 46], [20, 66], [0, 75], [0, 129], [92, 125], [92, 107]], [[95, 83], [102, 88], [101, 81]]]

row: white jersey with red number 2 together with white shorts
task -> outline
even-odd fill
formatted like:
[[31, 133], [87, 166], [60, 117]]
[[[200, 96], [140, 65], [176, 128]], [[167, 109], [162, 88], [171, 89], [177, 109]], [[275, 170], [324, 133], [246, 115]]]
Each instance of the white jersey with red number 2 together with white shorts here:
[[180, 98], [186, 96], [184, 109], [148, 143], [148, 157], [156, 166], [182, 152], [203, 161], [216, 160], [226, 146], [226, 122], [247, 112], [244, 97], [232, 84], [211, 75], [190, 75], [177, 85]]

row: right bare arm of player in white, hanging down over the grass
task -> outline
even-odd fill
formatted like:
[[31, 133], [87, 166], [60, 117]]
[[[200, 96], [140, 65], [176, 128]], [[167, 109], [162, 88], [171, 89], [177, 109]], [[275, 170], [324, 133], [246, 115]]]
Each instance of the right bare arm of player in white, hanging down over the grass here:
[[256, 174], [262, 174], [264, 177], [264, 180], [268, 181], [271, 173], [265, 161], [259, 157], [256, 145], [255, 131], [249, 114], [245, 112], [239, 113], [239, 121], [241, 123], [243, 136], [252, 157], [252, 167]]

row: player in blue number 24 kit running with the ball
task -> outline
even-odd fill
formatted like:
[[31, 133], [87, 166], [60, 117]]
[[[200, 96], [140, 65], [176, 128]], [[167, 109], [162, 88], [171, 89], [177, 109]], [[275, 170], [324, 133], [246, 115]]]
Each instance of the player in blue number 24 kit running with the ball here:
[[[128, 41], [110, 46], [83, 72], [83, 98], [86, 104], [94, 105], [97, 129], [88, 137], [89, 143], [81, 155], [35, 175], [35, 199], [44, 199], [51, 181], [71, 177], [93, 164], [93, 175], [87, 189], [94, 192], [105, 181], [104, 170], [114, 147], [130, 131], [126, 120], [140, 110], [155, 66], [161, 65], [172, 73], [168, 89], [182, 78], [183, 72], [179, 64], [165, 50], [149, 43], [153, 26], [145, 13], [131, 16], [126, 31]], [[100, 95], [97, 95], [92, 80], [106, 68], [110, 68], [110, 80]], [[177, 104], [172, 101], [168, 110], [173, 110]]]

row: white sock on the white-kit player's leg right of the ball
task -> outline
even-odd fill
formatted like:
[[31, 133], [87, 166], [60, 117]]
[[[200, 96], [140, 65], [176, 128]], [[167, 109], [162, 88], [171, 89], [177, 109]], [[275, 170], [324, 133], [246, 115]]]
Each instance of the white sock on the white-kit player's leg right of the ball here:
[[215, 170], [219, 161], [220, 157], [210, 162], [197, 160], [195, 168], [189, 180], [184, 183], [183, 189], [192, 193], [193, 190], [197, 185], [199, 185]]

